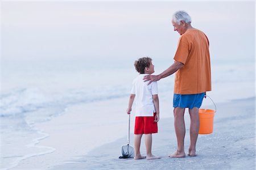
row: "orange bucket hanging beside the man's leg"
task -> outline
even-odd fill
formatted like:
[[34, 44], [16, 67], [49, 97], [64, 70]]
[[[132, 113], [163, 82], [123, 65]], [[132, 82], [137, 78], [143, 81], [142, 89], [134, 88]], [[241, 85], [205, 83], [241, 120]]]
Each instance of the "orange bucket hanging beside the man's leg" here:
[[199, 134], [210, 134], [213, 132], [214, 113], [215, 111], [211, 109], [199, 109]]

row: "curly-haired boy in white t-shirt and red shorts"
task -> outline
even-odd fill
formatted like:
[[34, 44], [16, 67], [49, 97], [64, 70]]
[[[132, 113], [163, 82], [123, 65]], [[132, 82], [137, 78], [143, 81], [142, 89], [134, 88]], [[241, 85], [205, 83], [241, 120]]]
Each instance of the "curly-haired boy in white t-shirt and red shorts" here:
[[[152, 82], [147, 84], [143, 77], [155, 72], [152, 59], [149, 57], [139, 58], [134, 62], [135, 69], [140, 73], [133, 80], [133, 88], [129, 99], [127, 114], [131, 112], [134, 98], [136, 96], [135, 128], [134, 128], [134, 159], [159, 159], [151, 153], [152, 133], [158, 133], [159, 121], [159, 100], [158, 84]], [[145, 144], [147, 156], [142, 156], [139, 148], [141, 146], [141, 137], [145, 134]]]

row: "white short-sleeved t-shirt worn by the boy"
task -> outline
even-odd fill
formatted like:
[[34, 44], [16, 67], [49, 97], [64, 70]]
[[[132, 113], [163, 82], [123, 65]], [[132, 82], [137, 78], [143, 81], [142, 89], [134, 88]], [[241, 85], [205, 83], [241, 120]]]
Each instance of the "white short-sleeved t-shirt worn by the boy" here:
[[135, 116], [154, 116], [155, 112], [152, 95], [158, 94], [158, 83], [152, 82], [147, 85], [148, 81], [143, 80], [145, 75], [149, 74], [139, 74], [133, 80], [133, 88], [131, 88], [131, 94], [135, 95]]

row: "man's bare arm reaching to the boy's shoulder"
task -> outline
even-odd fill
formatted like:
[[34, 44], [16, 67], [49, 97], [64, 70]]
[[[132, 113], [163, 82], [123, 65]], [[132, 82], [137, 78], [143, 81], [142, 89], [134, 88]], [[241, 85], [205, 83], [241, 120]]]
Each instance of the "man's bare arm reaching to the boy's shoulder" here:
[[183, 65], [184, 65], [183, 63], [176, 61], [168, 69], [163, 71], [163, 73], [161, 73], [159, 75], [146, 75], [146, 76], [144, 76], [143, 80], [144, 80], [144, 82], [149, 80], [150, 82], [148, 82], [148, 84], [150, 84], [151, 82], [156, 82], [162, 78], [165, 78], [169, 75], [174, 74], [177, 70], [179, 70], [181, 67], [183, 67]]

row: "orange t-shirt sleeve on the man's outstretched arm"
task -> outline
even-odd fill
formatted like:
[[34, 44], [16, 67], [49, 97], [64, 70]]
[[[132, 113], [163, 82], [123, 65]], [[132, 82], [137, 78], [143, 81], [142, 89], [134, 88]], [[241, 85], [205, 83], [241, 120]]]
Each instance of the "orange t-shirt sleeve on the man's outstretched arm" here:
[[183, 64], [186, 63], [189, 55], [189, 45], [184, 37], [180, 37], [179, 43], [177, 46], [176, 54], [174, 56], [175, 61], [179, 61]]

